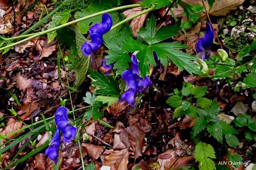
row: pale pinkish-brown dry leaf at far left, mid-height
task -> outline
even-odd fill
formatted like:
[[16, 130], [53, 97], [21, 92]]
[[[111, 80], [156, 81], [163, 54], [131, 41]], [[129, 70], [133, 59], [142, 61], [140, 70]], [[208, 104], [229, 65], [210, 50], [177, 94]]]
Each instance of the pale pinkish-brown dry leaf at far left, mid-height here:
[[36, 87], [39, 83], [37, 79], [26, 79], [22, 76], [16, 76], [17, 87], [19, 90]]

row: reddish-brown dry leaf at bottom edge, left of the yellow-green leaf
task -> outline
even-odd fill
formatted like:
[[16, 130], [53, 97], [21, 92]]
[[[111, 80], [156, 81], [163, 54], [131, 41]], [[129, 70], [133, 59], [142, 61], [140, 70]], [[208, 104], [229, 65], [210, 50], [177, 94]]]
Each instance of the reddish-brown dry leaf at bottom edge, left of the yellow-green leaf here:
[[169, 170], [171, 168], [176, 168], [180, 165], [187, 165], [188, 161], [191, 159], [194, 159], [194, 156], [184, 156], [184, 157], [179, 157], [179, 158], [172, 158], [169, 162], [167, 162], [164, 165], [165, 170]]

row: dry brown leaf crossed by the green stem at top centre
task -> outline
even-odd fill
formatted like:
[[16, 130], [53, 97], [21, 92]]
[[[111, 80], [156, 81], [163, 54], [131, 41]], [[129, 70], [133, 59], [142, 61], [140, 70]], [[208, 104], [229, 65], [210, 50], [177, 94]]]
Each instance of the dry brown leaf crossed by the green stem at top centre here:
[[[125, 15], [126, 18], [129, 18], [129, 17], [131, 17], [135, 14], [138, 14], [142, 11], [144, 11], [144, 10], [142, 10], [142, 7], [136, 7], [136, 8], [132, 8], [132, 9], [128, 9], [128, 10], [124, 11], [123, 14]], [[138, 38], [139, 35], [137, 34], [137, 32], [140, 31], [141, 27], [143, 27], [145, 19], [147, 18], [147, 14], [148, 13], [140, 15], [136, 18], [133, 18], [130, 25], [132, 27], [133, 35], [135, 38]]]

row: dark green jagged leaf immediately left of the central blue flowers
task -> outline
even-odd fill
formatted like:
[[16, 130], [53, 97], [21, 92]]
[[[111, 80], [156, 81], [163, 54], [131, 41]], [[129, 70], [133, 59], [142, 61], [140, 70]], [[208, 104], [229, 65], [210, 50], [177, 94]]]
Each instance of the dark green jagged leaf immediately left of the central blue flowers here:
[[91, 78], [96, 80], [91, 82], [91, 84], [99, 87], [99, 89], [96, 90], [96, 93], [112, 96], [118, 96], [120, 94], [118, 81], [115, 80], [112, 76], [109, 76], [109, 79], [107, 79], [107, 77], [102, 72], [99, 74], [97, 71], [91, 69], [89, 69], [89, 72]]

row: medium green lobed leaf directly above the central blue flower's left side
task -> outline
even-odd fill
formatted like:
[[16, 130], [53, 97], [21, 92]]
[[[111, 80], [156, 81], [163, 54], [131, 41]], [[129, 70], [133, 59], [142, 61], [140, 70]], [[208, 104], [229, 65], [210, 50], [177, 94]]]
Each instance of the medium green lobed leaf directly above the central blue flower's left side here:
[[131, 62], [129, 54], [116, 44], [108, 44], [107, 47], [110, 49], [107, 51], [109, 55], [105, 56], [107, 59], [106, 64], [115, 62], [113, 69], [117, 69], [117, 74], [122, 74], [123, 71], [129, 68], [127, 61]]

